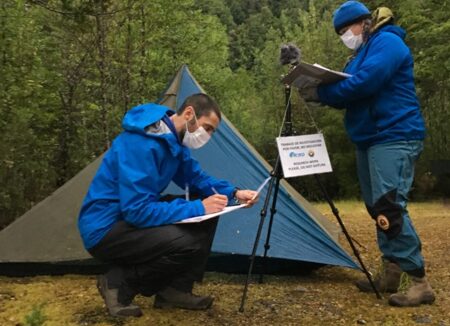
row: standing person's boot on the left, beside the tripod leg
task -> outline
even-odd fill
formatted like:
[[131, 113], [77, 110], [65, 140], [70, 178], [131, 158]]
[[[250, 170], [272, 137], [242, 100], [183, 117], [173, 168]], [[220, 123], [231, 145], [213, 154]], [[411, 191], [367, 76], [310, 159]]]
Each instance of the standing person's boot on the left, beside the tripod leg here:
[[[373, 283], [379, 292], [395, 293], [400, 285], [401, 274], [400, 266], [388, 260], [383, 260], [381, 270], [375, 276]], [[373, 288], [367, 279], [356, 281], [355, 284], [362, 292], [373, 292]]]

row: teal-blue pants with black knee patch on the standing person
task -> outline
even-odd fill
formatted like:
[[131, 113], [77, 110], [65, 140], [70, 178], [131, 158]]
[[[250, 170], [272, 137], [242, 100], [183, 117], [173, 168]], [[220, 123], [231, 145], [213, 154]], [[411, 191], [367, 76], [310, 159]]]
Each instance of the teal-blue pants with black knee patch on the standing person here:
[[423, 141], [414, 140], [377, 144], [356, 153], [362, 196], [377, 222], [383, 258], [415, 274], [424, 273], [424, 261], [406, 206], [422, 149]]

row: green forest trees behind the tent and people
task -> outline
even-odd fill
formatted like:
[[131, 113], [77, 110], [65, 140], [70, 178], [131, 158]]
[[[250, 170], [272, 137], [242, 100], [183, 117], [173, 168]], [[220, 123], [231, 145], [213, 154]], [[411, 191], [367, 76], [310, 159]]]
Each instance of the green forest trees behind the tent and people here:
[[[47, 197], [121, 131], [131, 107], [155, 101], [186, 63], [225, 115], [273, 163], [284, 112], [280, 45], [341, 70], [350, 55], [332, 27], [339, 0], [2, 0], [0, 4], [0, 229]], [[427, 124], [414, 199], [450, 194], [450, 4], [390, 7], [407, 31]], [[358, 198], [343, 112], [294, 98], [299, 134], [325, 134], [334, 198]], [[315, 121], [315, 123], [314, 123]], [[289, 180], [320, 200], [309, 177]]]

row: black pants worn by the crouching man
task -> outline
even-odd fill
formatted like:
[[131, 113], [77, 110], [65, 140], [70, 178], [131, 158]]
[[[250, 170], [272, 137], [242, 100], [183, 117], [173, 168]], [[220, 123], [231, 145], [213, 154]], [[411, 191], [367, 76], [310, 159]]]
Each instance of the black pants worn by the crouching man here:
[[112, 265], [108, 285], [119, 289], [122, 303], [167, 286], [190, 292], [203, 278], [217, 221], [144, 229], [119, 221], [89, 252]]

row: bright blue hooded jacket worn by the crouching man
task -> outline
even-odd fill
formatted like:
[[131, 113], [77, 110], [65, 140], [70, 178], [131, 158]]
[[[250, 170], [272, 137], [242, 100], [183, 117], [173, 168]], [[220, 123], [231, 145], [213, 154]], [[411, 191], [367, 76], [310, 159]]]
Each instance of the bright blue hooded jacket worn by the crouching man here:
[[235, 187], [204, 173], [180, 144], [171, 131], [171, 114], [165, 106], [143, 104], [125, 115], [125, 131], [106, 152], [81, 207], [78, 227], [87, 249], [120, 220], [146, 228], [203, 215], [200, 199], [159, 201], [171, 181], [183, 189], [187, 183], [192, 193], [201, 196], [213, 195], [214, 187], [232, 198]]

